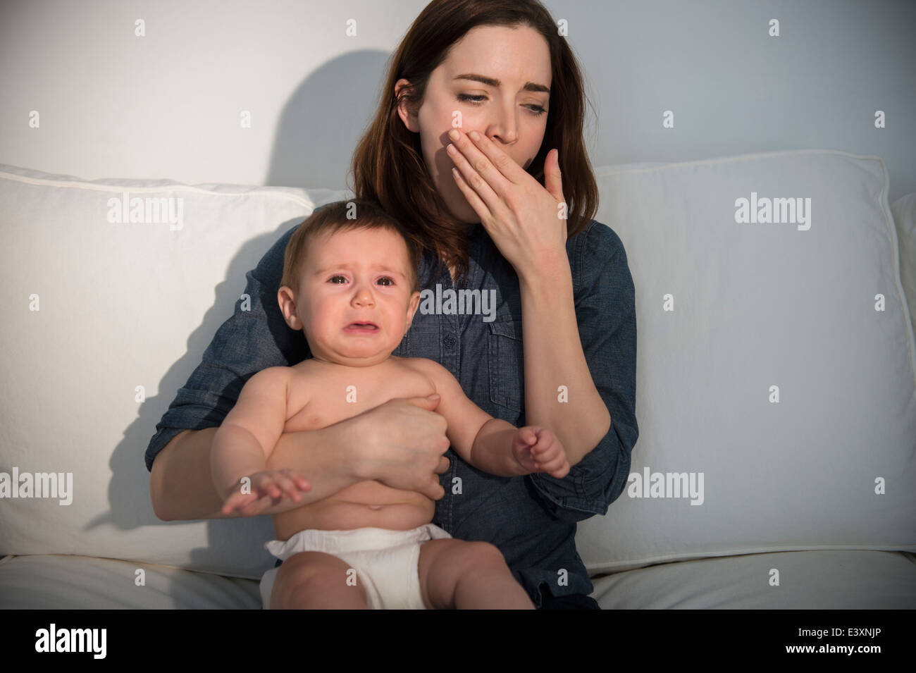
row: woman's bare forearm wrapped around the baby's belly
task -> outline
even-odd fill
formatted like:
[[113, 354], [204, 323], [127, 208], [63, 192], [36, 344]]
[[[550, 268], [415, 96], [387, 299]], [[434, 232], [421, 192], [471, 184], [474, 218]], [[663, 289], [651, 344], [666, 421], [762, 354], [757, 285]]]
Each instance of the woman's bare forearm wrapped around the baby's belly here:
[[[173, 521], [239, 516], [237, 513], [222, 514], [223, 500], [213, 487], [210, 452], [216, 430], [185, 430], [159, 451], [149, 480], [153, 511], [158, 518]], [[302, 493], [298, 503], [284, 498], [262, 514], [278, 514], [308, 505], [362, 481], [346, 458], [345, 433], [342, 424], [337, 424], [311, 432], [281, 435], [267, 467], [300, 472], [311, 484], [311, 490]]]

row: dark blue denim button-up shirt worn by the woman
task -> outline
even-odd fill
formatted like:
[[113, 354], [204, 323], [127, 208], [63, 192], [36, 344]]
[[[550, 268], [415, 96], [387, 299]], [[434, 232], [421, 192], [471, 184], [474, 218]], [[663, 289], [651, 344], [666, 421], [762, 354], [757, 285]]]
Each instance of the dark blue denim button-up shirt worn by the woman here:
[[[147, 470], [181, 430], [218, 427], [253, 374], [311, 357], [304, 334], [289, 329], [277, 302], [283, 254], [297, 227], [245, 274], [250, 309], [241, 310], [241, 299], [235, 302], [234, 316], [216, 332], [202, 363], [159, 420], [147, 447]], [[424, 253], [420, 286], [432, 292], [428, 307], [442, 292], [442, 310], [424, 312], [421, 298], [393, 354], [435, 360], [454, 374], [478, 407], [521, 427], [526, 421], [518, 276], [483, 225], [474, 225], [467, 235], [470, 266], [466, 284], [459, 279], [459, 288], [479, 289], [488, 298], [493, 297], [489, 290], [496, 290], [495, 309], [488, 307], [491, 315], [468, 313], [466, 308], [446, 313], [447, 290], [455, 289], [452, 277], [443, 269], [439, 278], [432, 278], [435, 259]], [[566, 252], [585, 360], [610, 413], [611, 428], [563, 479], [544, 473], [498, 477], [447, 450], [449, 469], [440, 475], [445, 495], [436, 502], [432, 520], [453, 537], [496, 545], [538, 607], [541, 588], [554, 596], [593, 591], [575, 548], [576, 522], [605, 514], [623, 492], [638, 438], [635, 293], [623, 244], [613, 230], [593, 221], [567, 240]]]

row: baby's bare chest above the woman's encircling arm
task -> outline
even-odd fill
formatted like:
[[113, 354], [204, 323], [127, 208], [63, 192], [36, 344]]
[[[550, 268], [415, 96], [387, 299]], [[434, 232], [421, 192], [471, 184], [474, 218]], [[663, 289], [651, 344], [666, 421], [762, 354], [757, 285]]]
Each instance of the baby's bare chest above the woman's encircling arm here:
[[432, 395], [429, 377], [408, 365], [365, 368], [312, 367], [294, 370], [284, 432], [326, 428], [396, 397]]

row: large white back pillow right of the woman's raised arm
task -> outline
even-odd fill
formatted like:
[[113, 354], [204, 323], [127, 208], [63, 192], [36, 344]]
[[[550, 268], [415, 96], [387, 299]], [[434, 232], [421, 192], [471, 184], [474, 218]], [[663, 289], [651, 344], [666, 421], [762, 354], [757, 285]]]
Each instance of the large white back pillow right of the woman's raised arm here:
[[[639, 438], [627, 489], [579, 526], [589, 570], [916, 549], [916, 348], [884, 163], [805, 150], [598, 172], [596, 219], [636, 288]], [[736, 222], [741, 199], [797, 197], [794, 223]], [[696, 497], [652, 497], [683, 478]]]

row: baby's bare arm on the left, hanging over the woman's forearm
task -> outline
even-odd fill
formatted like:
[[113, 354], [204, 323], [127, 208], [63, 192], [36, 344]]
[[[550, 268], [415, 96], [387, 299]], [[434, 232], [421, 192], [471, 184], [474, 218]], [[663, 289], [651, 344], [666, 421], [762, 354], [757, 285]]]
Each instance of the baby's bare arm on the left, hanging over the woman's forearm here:
[[[224, 499], [224, 514], [267, 495], [280, 497], [279, 486], [294, 502], [301, 497], [297, 486], [303, 491], [311, 488], [295, 472], [284, 475], [267, 470], [267, 458], [286, 425], [288, 384], [289, 367], [268, 367], [252, 376], [213, 436], [211, 473], [213, 486]], [[243, 477], [251, 478], [248, 493], [242, 491]], [[254, 515], [261, 509], [264, 507], [245, 514]]]

